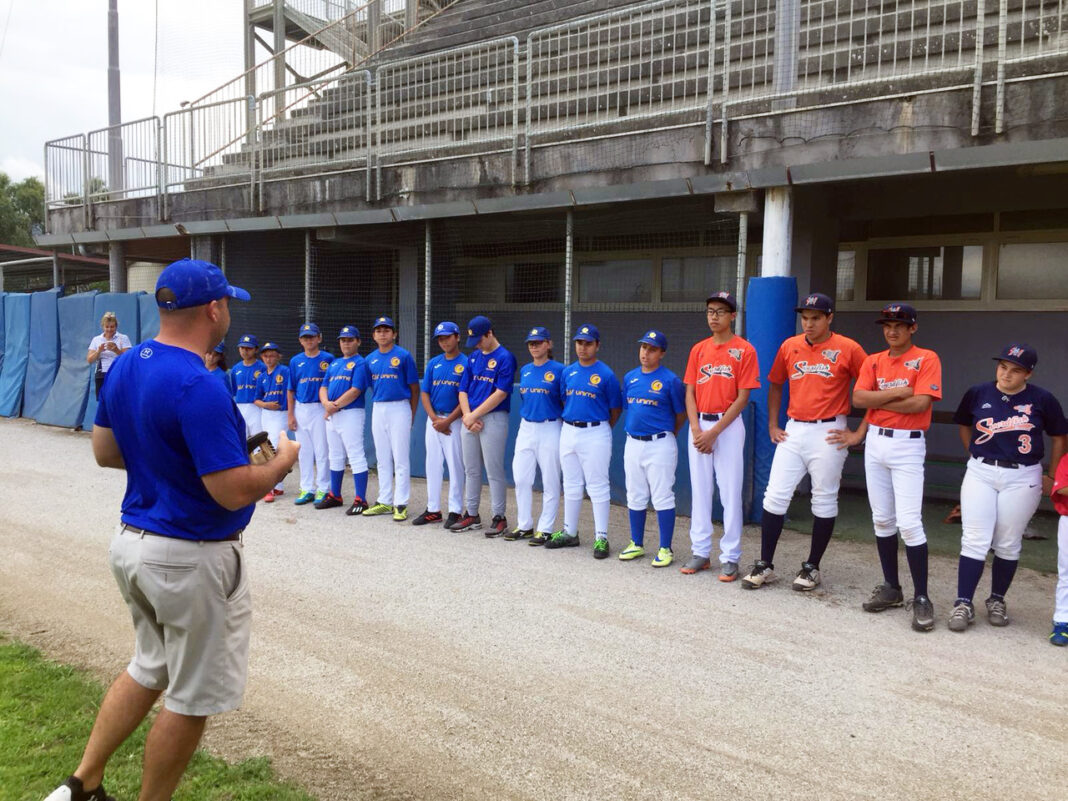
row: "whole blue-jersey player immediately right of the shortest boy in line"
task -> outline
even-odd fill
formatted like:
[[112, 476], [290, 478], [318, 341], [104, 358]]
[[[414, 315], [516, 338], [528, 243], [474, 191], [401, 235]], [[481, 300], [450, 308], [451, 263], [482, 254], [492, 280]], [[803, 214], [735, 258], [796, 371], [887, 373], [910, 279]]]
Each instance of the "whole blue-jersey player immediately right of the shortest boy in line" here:
[[298, 506], [321, 501], [330, 489], [326, 418], [319, 403], [319, 387], [333, 355], [319, 350], [323, 334], [314, 323], [300, 327], [300, 347], [289, 360], [288, 418], [289, 429], [297, 433], [300, 443], [300, 494]]

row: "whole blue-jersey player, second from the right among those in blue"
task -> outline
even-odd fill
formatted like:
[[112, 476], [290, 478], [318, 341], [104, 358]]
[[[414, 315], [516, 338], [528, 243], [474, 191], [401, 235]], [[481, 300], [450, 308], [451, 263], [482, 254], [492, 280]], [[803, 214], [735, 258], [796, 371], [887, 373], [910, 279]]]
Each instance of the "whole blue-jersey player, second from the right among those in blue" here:
[[612, 426], [623, 410], [619, 379], [597, 358], [600, 332], [596, 326], [579, 326], [575, 332], [578, 363], [564, 368], [564, 427], [560, 434], [560, 466], [564, 473], [564, 530], [546, 548], [579, 545], [579, 512], [585, 488], [594, 507], [594, 557], [607, 559], [612, 461]]

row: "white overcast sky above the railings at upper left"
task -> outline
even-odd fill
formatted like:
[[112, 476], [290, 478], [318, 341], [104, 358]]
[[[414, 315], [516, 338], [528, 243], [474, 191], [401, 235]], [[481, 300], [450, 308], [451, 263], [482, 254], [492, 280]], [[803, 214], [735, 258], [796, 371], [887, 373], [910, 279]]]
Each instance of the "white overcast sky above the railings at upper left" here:
[[[244, 0], [158, 0], [154, 96], [156, 5], [119, 0], [124, 122], [161, 117], [245, 68]], [[0, 0], [0, 171], [43, 177], [46, 141], [108, 124], [108, 1]]]

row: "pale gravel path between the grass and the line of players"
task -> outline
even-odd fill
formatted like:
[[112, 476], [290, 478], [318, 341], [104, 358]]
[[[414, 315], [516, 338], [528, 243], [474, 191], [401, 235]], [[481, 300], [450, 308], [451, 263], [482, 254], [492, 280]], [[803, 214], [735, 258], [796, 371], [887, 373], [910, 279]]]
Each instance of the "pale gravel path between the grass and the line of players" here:
[[[110, 678], [132, 642], [106, 564], [124, 478], [84, 434], [4, 420], [0, 441], [0, 630]], [[956, 561], [934, 559], [921, 634], [860, 610], [869, 546], [832, 544], [811, 595], [749, 593], [597, 562], [585, 537], [551, 552], [292, 497], [248, 533], [249, 689], [206, 742], [324, 800], [1068, 798], [1051, 577], [1020, 571], [1008, 628], [980, 611], [955, 634]], [[613, 551], [625, 530], [613, 508]], [[784, 536], [784, 572], [806, 549]]]

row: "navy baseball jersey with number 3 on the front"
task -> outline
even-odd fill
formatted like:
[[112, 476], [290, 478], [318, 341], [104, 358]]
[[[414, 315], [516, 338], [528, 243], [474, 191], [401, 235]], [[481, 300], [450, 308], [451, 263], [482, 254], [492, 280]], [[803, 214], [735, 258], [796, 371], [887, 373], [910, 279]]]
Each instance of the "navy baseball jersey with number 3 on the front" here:
[[1030, 383], [1015, 395], [1006, 395], [993, 381], [978, 383], [964, 393], [953, 422], [972, 429], [968, 447], [972, 456], [1018, 465], [1042, 460], [1043, 434], [1068, 434], [1068, 421], [1057, 399]]

